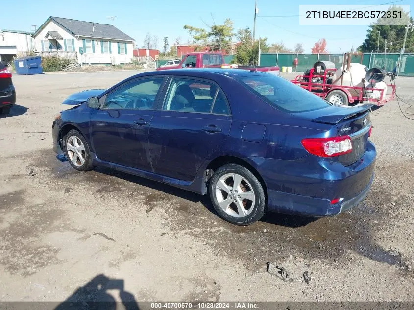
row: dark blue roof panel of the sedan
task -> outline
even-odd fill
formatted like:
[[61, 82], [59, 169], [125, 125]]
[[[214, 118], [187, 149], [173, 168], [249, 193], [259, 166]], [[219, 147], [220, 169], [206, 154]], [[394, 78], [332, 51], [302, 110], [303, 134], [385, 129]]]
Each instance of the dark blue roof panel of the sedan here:
[[185, 76], [194, 76], [194, 77], [205, 77], [213, 78], [217, 75], [224, 75], [231, 78], [238, 78], [244, 76], [256, 76], [267, 74], [264, 72], [256, 70], [246, 70], [246, 69], [224, 69], [224, 68], [191, 68], [191, 69], [168, 69], [160, 71], [150, 71], [138, 74], [139, 76], [145, 75], [185, 75]]

